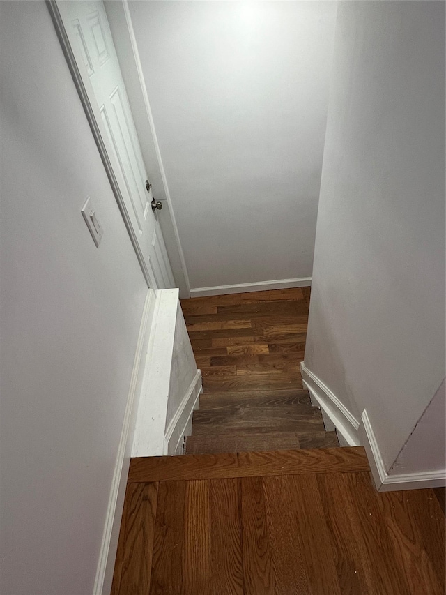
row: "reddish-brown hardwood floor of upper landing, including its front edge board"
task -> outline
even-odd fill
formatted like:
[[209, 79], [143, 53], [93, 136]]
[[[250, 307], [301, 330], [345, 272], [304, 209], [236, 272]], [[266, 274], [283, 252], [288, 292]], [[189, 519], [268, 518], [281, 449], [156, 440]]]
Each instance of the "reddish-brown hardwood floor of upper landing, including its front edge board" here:
[[112, 593], [443, 595], [433, 490], [378, 494], [362, 448], [132, 460]]

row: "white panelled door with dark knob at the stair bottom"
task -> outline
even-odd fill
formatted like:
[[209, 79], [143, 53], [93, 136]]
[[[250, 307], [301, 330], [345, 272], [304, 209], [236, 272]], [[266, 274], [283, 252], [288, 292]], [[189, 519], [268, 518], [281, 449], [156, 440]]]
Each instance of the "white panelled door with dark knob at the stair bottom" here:
[[[59, 11], [109, 153], [153, 289], [174, 287], [137, 131], [102, 1], [60, 1]], [[96, 105], [93, 105], [93, 103]]]

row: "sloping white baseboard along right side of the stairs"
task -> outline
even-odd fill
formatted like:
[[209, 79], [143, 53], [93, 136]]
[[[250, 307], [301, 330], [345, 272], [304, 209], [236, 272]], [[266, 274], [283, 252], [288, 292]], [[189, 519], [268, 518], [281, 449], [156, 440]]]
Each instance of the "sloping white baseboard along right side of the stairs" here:
[[310, 393], [313, 405], [321, 407], [324, 416], [327, 416], [336, 428], [337, 432], [344, 439], [347, 446], [360, 446], [360, 435], [357, 430], [359, 421], [351, 414], [345, 405], [337, 398], [332, 391], [325, 386], [320, 378], [300, 362], [300, 372], [304, 386]]

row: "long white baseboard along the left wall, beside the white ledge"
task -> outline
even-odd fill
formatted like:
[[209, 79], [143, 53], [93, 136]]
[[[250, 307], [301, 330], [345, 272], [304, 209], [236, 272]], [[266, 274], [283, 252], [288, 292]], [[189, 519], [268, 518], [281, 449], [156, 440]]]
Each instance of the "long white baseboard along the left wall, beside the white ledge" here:
[[112, 479], [112, 488], [109, 495], [105, 528], [102, 536], [98, 568], [96, 571], [93, 595], [109, 595], [112, 589], [114, 562], [118, 548], [119, 529], [123, 514], [125, 486], [127, 484], [128, 467], [132, 451], [134, 426], [138, 408], [138, 397], [141, 391], [142, 377], [144, 375], [145, 354], [150, 336], [151, 321], [155, 309], [155, 292], [149, 289], [144, 304], [137, 349], [134, 356], [130, 388], [125, 405], [123, 427], [119, 440], [118, 454]]

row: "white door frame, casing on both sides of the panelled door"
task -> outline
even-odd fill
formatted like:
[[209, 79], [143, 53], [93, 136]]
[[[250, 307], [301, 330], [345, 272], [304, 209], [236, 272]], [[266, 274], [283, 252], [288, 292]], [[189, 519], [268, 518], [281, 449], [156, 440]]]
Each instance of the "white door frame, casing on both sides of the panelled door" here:
[[[82, 74], [81, 74], [81, 72], [79, 70], [79, 66], [77, 64], [77, 59], [75, 57], [75, 53], [73, 52], [72, 46], [70, 44], [70, 40], [66, 33], [65, 26], [63, 24], [63, 19], [61, 17], [61, 13], [59, 12], [59, 7], [57, 6], [57, 0], [46, 0], [46, 3], [47, 3], [47, 7], [49, 9], [49, 13], [52, 17], [54, 28], [56, 29], [56, 33], [59, 38], [59, 43], [61, 43], [63, 54], [66, 57], [66, 61], [68, 63], [68, 68], [70, 69], [70, 73], [72, 75], [73, 82], [75, 83], [77, 93], [79, 94], [79, 98], [81, 100], [82, 106], [84, 107], [86, 119], [89, 121], [91, 132], [93, 134], [93, 138], [95, 139], [96, 146], [98, 147], [98, 151], [100, 154], [100, 158], [102, 160], [102, 164], [104, 165], [105, 172], [107, 173], [107, 177], [109, 179], [110, 186], [112, 187], [112, 191], [114, 193], [114, 197], [118, 204], [119, 211], [121, 212], [121, 216], [123, 218], [125, 228], [128, 231], [130, 241], [132, 242], [132, 246], [133, 246], [134, 251], [137, 255], [139, 266], [141, 266], [141, 271], [144, 275], [144, 279], [146, 280], [148, 287], [151, 287], [152, 289], [158, 289], [153, 271], [148, 269], [148, 266], [146, 264], [146, 259], [144, 258], [144, 255], [141, 251], [141, 246], [139, 245], [139, 241], [137, 239], [136, 232], [133, 228], [133, 225], [132, 225], [132, 222], [130, 219], [130, 215], [128, 213], [127, 206], [125, 205], [123, 195], [122, 195], [121, 189], [119, 187], [118, 180], [116, 179], [112, 161], [110, 160], [109, 153], [107, 152], [107, 146], [106, 146], [106, 144], [103, 140], [103, 137], [102, 137], [102, 133], [100, 130], [100, 124], [98, 123], [98, 118], [95, 115], [95, 110], [93, 109], [93, 105], [92, 105], [92, 101], [94, 101], [93, 89], [87, 89], [84, 84]], [[134, 47], [134, 45], [136, 44], [136, 41], [134, 40], [134, 35], [133, 35], [133, 31], [132, 31], [132, 26], [131, 26], [131, 21], [130, 21], [130, 13], [128, 10], [127, 1], [123, 0], [122, 2], [116, 2], [116, 4], [122, 5], [123, 13], [125, 14], [125, 25], [128, 29], [128, 36], [130, 38], [130, 43], [132, 43], [132, 50], [133, 50], [133, 52], [135, 52], [135, 51], [137, 52], [136, 47]], [[141, 85], [141, 93], [144, 96], [144, 103], [146, 103], [145, 107], [148, 112], [148, 114], [147, 114], [148, 121], [150, 123], [149, 132], [150, 132], [151, 140], [153, 142], [153, 149], [155, 150], [156, 158], [157, 158], [156, 165], [158, 167], [152, 167], [151, 169], [155, 169], [155, 170], [159, 169], [160, 170], [160, 172], [155, 171], [155, 176], [154, 176], [155, 178], [161, 177], [161, 183], [156, 184], [157, 185], [157, 195], [160, 195], [160, 193], [161, 193], [162, 194], [161, 199], [165, 199], [169, 206], [169, 215], [171, 218], [171, 225], [174, 229], [174, 242], [176, 243], [176, 246], [174, 247], [175, 248], [174, 251], [176, 253], [178, 253], [177, 260], [178, 260], [178, 264], [180, 267], [180, 271], [178, 271], [178, 266], [176, 267], [176, 269], [177, 269], [176, 276], [178, 276], [178, 272], [180, 272], [181, 279], [178, 280], [179, 285], [183, 285], [183, 288], [182, 288], [183, 296], [188, 297], [189, 292], [190, 292], [190, 283], [189, 283], [189, 279], [187, 276], [187, 269], [185, 266], [183, 250], [182, 250], [182, 247], [180, 244], [178, 228], [176, 226], [176, 221], [175, 221], [175, 217], [174, 217], [174, 211], [171, 206], [171, 199], [170, 199], [170, 195], [169, 195], [169, 190], [167, 188], [167, 181], [165, 179], [164, 168], [162, 167], [160, 150], [159, 150], [157, 140], [156, 140], [156, 135], [155, 135], [155, 128], [153, 127], [153, 119], [151, 116], [150, 105], [148, 105], [148, 98], [146, 97], [147, 92], [146, 92], [145, 85], [144, 85], [144, 77], [142, 77], [141, 65], [139, 63], [137, 54], [133, 56], [133, 59], [135, 62], [134, 66], [136, 66], [136, 68], [138, 70], [138, 74], [139, 74], [139, 84]], [[146, 160], [146, 154], [144, 154], [144, 160]], [[151, 165], [155, 165], [155, 163], [152, 163]], [[159, 174], [161, 174], [161, 175], [159, 175]], [[155, 181], [155, 183], [156, 183], [156, 181]], [[178, 281], [177, 281], [177, 283], [178, 283]]]

